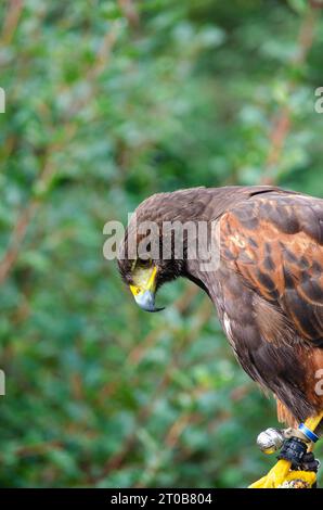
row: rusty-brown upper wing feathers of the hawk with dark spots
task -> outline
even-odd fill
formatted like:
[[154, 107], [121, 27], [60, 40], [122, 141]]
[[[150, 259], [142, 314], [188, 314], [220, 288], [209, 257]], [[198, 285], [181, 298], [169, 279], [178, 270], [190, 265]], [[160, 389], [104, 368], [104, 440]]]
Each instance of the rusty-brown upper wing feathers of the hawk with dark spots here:
[[323, 200], [257, 196], [220, 226], [225, 264], [279, 306], [300, 337], [323, 345]]

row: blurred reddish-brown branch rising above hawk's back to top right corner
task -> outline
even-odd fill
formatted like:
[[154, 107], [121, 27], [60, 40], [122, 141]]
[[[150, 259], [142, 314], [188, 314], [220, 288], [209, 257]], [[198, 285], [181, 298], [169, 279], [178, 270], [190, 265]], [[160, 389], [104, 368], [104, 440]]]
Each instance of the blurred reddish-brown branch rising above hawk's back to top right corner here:
[[[305, 17], [301, 22], [299, 34], [298, 34], [298, 43], [297, 52], [292, 59], [292, 66], [300, 67], [306, 63], [308, 53], [312, 48], [315, 28], [316, 28], [316, 18], [318, 14], [314, 12], [313, 2], [310, 2], [311, 7], [307, 10]], [[315, 8], [318, 9], [318, 3]], [[320, 2], [321, 3], [321, 2]], [[321, 3], [323, 8], [323, 3]], [[295, 90], [296, 84], [292, 80], [288, 84], [289, 94]], [[272, 120], [272, 128], [269, 135], [270, 148], [267, 156], [264, 171], [261, 177], [262, 184], [273, 184], [275, 182], [275, 169], [280, 162], [282, 151], [284, 149], [286, 139], [292, 127], [292, 112], [288, 105], [282, 106], [279, 114]]]

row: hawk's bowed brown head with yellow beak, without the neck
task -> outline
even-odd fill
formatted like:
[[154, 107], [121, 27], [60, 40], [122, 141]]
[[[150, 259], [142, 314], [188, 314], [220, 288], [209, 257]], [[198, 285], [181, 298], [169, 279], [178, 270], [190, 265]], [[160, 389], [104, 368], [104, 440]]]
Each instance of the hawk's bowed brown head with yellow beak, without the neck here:
[[[137, 208], [127, 227], [119, 247], [119, 271], [138, 305], [146, 311], [163, 309], [156, 308], [155, 296], [164, 283], [188, 276], [186, 232], [183, 232], [180, 246], [182, 252], [176, 252], [173, 225], [176, 221], [178, 225], [184, 225], [188, 220], [191, 193], [193, 197], [193, 190], [151, 196]], [[191, 203], [192, 217], [196, 217], [202, 205], [197, 202]], [[169, 230], [168, 224], [172, 227]]]

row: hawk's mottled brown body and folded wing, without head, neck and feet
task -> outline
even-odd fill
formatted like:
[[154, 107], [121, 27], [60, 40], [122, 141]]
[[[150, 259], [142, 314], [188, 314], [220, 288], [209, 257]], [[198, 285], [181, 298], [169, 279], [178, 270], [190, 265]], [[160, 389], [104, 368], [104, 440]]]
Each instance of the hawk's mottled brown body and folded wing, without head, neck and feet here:
[[[281, 193], [242, 202], [220, 219], [223, 285], [216, 299], [231, 314], [245, 370], [273, 391], [281, 416], [297, 420], [323, 408], [314, 390], [323, 368], [322, 220], [322, 200]], [[229, 275], [241, 285], [241, 303]]]

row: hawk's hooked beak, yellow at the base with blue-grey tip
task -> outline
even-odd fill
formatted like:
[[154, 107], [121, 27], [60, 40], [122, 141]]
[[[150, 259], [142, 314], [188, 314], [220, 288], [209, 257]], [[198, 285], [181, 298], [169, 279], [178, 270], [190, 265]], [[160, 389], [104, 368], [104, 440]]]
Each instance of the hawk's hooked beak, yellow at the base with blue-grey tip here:
[[135, 303], [146, 311], [160, 311], [164, 308], [155, 307], [157, 268], [138, 268], [133, 275], [134, 285], [129, 285]]

